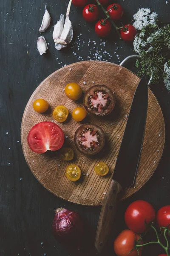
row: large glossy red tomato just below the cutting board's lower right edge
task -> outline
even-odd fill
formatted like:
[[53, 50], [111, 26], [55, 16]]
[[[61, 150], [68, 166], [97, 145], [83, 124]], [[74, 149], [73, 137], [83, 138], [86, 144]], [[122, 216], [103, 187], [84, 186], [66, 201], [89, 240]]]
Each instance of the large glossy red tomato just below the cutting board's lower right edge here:
[[155, 210], [146, 201], [138, 200], [130, 204], [125, 212], [125, 222], [127, 227], [135, 233], [144, 233], [147, 230], [145, 221], [149, 224], [154, 221]]

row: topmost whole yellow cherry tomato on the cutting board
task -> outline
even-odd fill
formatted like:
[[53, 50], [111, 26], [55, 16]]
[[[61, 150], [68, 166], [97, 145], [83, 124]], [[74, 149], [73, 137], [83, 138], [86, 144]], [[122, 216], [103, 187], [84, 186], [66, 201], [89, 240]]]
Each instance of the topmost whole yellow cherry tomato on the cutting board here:
[[82, 96], [82, 88], [77, 83], [70, 83], [65, 86], [65, 93], [69, 99], [77, 100]]

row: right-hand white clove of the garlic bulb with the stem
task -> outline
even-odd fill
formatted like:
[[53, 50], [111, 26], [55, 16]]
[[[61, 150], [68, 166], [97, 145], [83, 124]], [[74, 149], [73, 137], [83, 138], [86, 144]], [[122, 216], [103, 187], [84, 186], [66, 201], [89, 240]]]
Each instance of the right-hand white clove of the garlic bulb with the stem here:
[[[65, 24], [64, 24], [64, 28], [60, 36], [60, 39], [62, 39], [62, 42], [63, 42], [61, 44], [70, 44], [70, 42], [73, 39], [73, 26], [69, 19], [69, 16], [67, 16], [65, 19]], [[56, 41], [56, 43], [59, 43], [59, 42]]]

